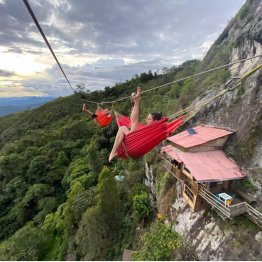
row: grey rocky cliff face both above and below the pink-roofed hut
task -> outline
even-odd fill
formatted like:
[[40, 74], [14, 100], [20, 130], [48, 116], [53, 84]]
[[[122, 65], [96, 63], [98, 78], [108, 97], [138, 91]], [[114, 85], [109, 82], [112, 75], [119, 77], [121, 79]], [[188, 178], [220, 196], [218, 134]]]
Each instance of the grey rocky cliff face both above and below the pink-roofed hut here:
[[[227, 62], [262, 54], [262, 2], [247, 1], [238, 15], [211, 47], [203, 63], [210, 64], [213, 57], [227, 52]], [[262, 64], [257, 57], [230, 67], [231, 76], [243, 76]], [[205, 100], [221, 91], [224, 86], [211, 89], [196, 101]], [[194, 101], [194, 102], [196, 102]], [[235, 136], [227, 145], [228, 151], [245, 150], [252, 158], [239, 163], [245, 169], [257, 198], [256, 207], [262, 211], [262, 70], [251, 75], [245, 83], [213, 101], [190, 123], [207, 124], [234, 129]], [[236, 154], [236, 160], [241, 159]], [[246, 154], [247, 155], [247, 154]], [[242, 156], [242, 157], [243, 157]], [[223, 221], [215, 211], [193, 213], [182, 198], [176, 184], [176, 200], [169, 210], [168, 221], [175, 223], [187, 246], [195, 250], [200, 260], [262, 260], [262, 230], [247, 218]], [[163, 194], [162, 194], [163, 195]], [[161, 209], [163, 197], [158, 197]]]

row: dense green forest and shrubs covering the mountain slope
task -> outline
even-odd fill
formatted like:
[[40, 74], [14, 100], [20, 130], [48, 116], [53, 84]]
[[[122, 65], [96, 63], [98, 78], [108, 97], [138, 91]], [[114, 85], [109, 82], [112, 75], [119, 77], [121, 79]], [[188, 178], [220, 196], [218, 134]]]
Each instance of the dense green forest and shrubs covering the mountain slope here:
[[[241, 12], [245, 19], [246, 11]], [[147, 90], [226, 64], [232, 48], [228, 36], [229, 28], [202, 62], [187, 61], [164, 68], [162, 74], [149, 70], [104, 91], [80, 90], [40, 108], [1, 117], [0, 260], [121, 260], [125, 248], [137, 250], [136, 260], [170, 259], [181, 239], [170, 226], [160, 222], [150, 226], [156, 210], [142, 183], [143, 159], [108, 163], [117, 125], [113, 121], [99, 128], [81, 112], [80, 96], [111, 101], [129, 96], [138, 85]], [[150, 112], [171, 115], [229, 78], [229, 70], [222, 69], [147, 92], [142, 95], [140, 120]], [[127, 101], [114, 109], [130, 114]], [[95, 108], [90, 105], [90, 110]], [[255, 127], [228, 153], [245, 163], [261, 134]], [[174, 178], [158, 165], [155, 153], [152, 150], [145, 158], [158, 174], [159, 196], [173, 185]], [[124, 181], [116, 181], [117, 175], [124, 176]], [[146, 233], [140, 245], [142, 232]]]

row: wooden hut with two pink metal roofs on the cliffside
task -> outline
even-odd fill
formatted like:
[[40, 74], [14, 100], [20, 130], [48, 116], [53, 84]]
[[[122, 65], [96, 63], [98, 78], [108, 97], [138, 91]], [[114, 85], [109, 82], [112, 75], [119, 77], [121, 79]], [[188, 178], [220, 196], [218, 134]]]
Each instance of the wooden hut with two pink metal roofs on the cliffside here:
[[[193, 211], [205, 208], [205, 200], [214, 194], [226, 196], [234, 180], [246, 178], [237, 163], [222, 151], [233, 133], [201, 125], [167, 138], [170, 144], [161, 148], [166, 168], [183, 181], [182, 195]], [[229, 199], [230, 195], [225, 205], [232, 204]]]

